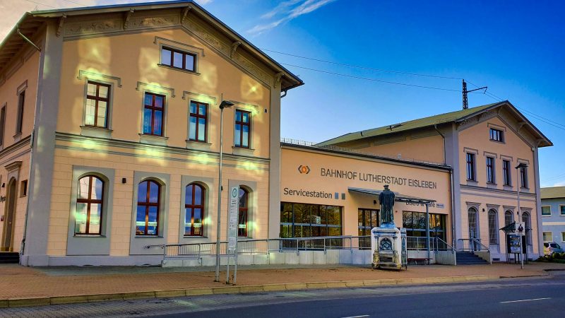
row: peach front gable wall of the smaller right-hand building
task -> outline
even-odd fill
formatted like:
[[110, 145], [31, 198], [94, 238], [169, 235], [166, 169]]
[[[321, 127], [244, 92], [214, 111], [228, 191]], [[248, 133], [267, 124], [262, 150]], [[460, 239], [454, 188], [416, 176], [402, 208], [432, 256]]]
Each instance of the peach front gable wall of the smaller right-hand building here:
[[[489, 127], [502, 129], [504, 131], [504, 143], [490, 141]], [[491, 119], [479, 122], [469, 128], [463, 129], [459, 132], [459, 151], [460, 151], [460, 180], [462, 185], [470, 187], [477, 187], [475, 189], [463, 188], [461, 190], [461, 220], [463, 238], [469, 237], [468, 227], [468, 209], [472, 204], [480, 204], [478, 206], [479, 216], [479, 231], [481, 242], [488, 246], [489, 242], [489, 226], [488, 226], [488, 211], [494, 208], [497, 211], [497, 228], [502, 228], [504, 223], [505, 211], [512, 211], [513, 220], [518, 220], [517, 206], [518, 196], [516, 189], [519, 181], [516, 176], [516, 165], [518, 160], [526, 161], [528, 163], [528, 187], [529, 189], [521, 189], [521, 208], [522, 210], [529, 211], [530, 223], [532, 227], [532, 243], [533, 252], [537, 253], [537, 229], [540, 225], [537, 224], [537, 205], [535, 203], [535, 169], [534, 156], [531, 146], [529, 146], [516, 132], [506, 124], [501, 118], [493, 117]], [[477, 152], [476, 158], [476, 179], [477, 182], [467, 180], [466, 168], [466, 152]], [[487, 163], [488, 156], [495, 156], [495, 182], [496, 184], [487, 183]], [[503, 185], [502, 177], [502, 158], [504, 160], [511, 160], [511, 186]], [[483, 211], [484, 210], [484, 211]], [[499, 234], [499, 252], [506, 252], [506, 240], [504, 232], [497, 231]], [[496, 247], [494, 247], [496, 249]], [[531, 252], [531, 251], [530, 251]]]

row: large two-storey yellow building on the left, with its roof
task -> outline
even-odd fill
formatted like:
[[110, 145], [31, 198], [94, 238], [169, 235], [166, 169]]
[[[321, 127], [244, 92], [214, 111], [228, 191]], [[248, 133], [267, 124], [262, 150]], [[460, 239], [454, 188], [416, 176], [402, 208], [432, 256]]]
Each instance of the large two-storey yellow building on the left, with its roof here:
[[0, 50], [2, 248], [21, 264], [159, 264], [159, 245], [215, 240], [222, 100], [222, 187], [241, 187], [239, 236], [268, 237], [280, 96], [302, 81], [198, 4], [34, 11]]

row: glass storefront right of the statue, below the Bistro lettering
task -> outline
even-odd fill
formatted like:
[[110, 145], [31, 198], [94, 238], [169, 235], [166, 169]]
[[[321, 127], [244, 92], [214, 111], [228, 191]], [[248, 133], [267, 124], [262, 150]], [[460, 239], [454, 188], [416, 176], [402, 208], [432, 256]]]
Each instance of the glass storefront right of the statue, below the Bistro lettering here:
[[[426, 213], [403, 211], [402, 225], [406, 228], [406, 236], [426, 237]], [[429, 237], [446, 240], [445, 214], [429, 213]]]

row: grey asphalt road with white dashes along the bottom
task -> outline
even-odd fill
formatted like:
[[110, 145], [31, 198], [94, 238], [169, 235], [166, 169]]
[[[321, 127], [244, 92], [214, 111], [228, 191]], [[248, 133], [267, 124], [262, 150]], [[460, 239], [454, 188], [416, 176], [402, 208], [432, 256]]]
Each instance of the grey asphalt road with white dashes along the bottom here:
[[6, 308], [0, 317], [565, 317], [565, 272], [398, 285]]

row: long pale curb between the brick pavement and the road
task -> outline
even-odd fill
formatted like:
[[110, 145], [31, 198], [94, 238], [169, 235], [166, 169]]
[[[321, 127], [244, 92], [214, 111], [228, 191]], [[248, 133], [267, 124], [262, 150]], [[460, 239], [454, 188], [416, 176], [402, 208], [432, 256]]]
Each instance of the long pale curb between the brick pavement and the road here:
[[62, 304], [74, 304], [78, 302], [100, 302], [106, 300], [133, 300], [133, 299], [147, 299], [147, 298], [200, 296], [200, 295], [212, 295], [212, 294], [258, 293], [258, 292], [284, 291], [284, 290], [352, 288], [352, 287], [369, 287], [369, 286], [381, 286], [381, 285], [462, 283], [462, 282], [470, 282], [470, 281], [492, 281], [499, 278], [502, 277], [494, 276], [494, 275], [474, 275], [474, 276], [447, 276], [447, 277], [430, 277], [430, 278], [398, 278], [398, 279], [374, 279], [374, 280], [365, 280], [365, 281], [328, 281], [328, 282], [311, 282], [311, 283], [279, 283], [279, 284], [266, 284], [266, 285], [203, 287], [203, 288], [186, 288], [186, 289], [173, 289], [173, 290], [153, 290], [153, 291], [133, 292], [133, 293], [52, 296], [52, 297], [44, 297], [44, 298], [11, 298], [11, 299], [0, 300], [0, 308], [62, 305]]

